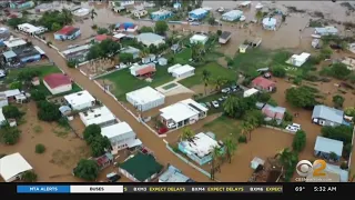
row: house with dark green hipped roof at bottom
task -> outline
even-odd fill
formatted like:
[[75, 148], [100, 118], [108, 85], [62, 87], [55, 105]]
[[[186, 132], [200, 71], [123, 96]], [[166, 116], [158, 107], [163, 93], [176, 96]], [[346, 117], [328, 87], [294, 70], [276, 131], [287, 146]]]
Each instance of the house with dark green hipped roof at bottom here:
[[150, 182], [162, 171], [163, 166], [152, 154], [139, 152], [120, 164], [119, 171], [133, 182]]

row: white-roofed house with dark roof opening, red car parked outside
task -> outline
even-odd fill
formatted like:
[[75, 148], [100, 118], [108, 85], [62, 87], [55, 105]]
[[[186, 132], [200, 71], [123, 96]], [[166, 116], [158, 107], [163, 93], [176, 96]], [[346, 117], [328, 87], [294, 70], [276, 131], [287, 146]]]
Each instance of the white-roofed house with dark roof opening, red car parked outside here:
[[205, 118], [209, 109], [192, 99], [185, 99], [159, 111], [163, 124], [178, 129]]

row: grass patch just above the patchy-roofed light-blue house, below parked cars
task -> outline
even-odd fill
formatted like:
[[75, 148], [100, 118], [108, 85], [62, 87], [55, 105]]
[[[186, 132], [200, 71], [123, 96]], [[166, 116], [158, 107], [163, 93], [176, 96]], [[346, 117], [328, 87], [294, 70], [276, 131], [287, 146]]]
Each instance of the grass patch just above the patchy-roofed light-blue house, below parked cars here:
[[225, 116], [221, 116], [216, 120], [204, 124], [202, 129], [203, 131], [214, 132], [217, 140], [223, 140], [227, 137], [232, 137], [236, 140], [241, 132], [239, 122], [235, 119]]

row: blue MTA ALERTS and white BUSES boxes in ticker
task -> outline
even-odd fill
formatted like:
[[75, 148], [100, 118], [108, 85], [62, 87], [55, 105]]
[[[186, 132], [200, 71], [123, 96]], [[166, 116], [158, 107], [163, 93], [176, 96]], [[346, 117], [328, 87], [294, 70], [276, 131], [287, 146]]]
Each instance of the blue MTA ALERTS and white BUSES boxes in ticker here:
[[123, 193], [123, 186], [17, 186], [17, 193]]

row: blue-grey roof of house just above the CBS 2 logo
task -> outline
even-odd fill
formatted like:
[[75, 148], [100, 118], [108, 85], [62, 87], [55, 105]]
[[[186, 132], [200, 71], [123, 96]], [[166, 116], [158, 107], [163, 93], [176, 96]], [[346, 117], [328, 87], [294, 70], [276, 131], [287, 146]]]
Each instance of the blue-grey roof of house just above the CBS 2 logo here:
[[335, 152], [337, 156], [342, 156], [343, 146], [343, 141], [333, 140], [329, 138], [318, 136], [317, 140], [315, 141], [314, 150], [326, 153]]

